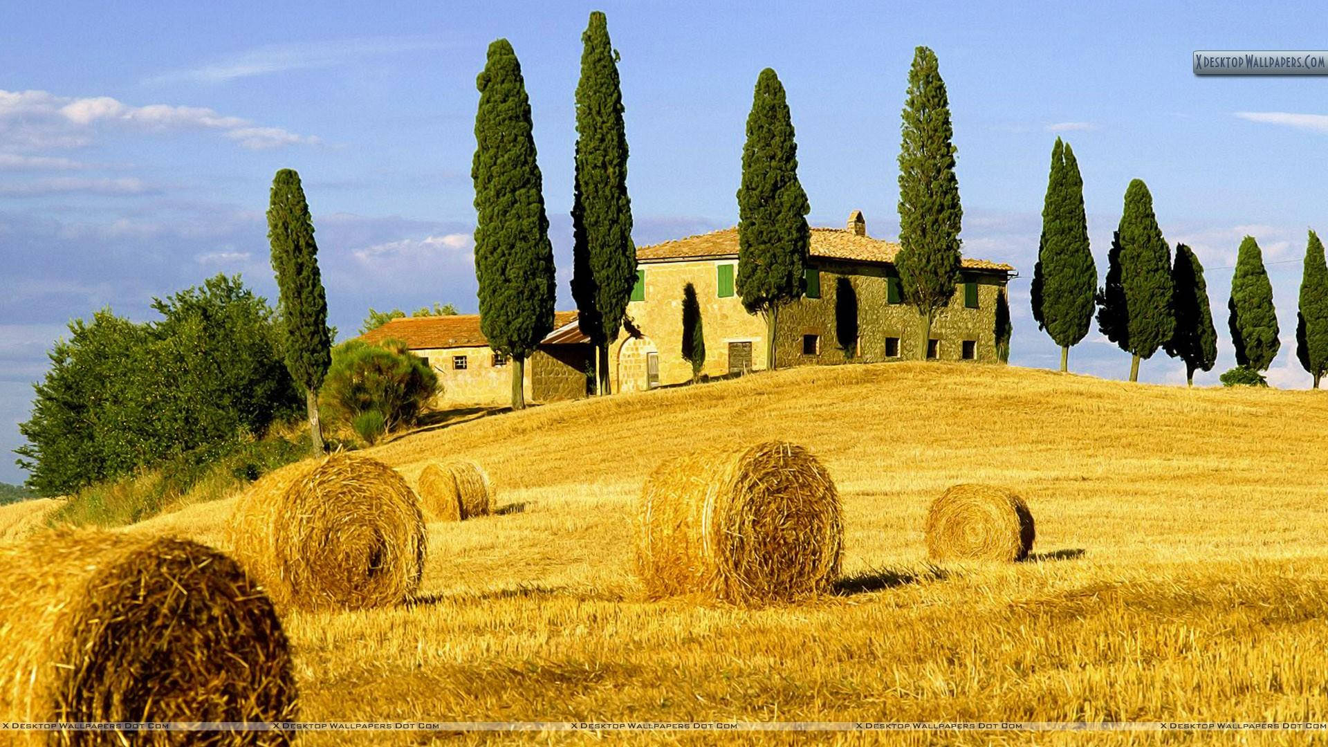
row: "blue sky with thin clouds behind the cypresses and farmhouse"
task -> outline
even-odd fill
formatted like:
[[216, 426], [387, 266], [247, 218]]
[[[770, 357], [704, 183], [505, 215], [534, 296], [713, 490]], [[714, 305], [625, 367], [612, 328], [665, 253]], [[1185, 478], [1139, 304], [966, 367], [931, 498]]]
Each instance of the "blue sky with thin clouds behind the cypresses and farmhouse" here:
[[[580, 32], [608, 13], [632, 148], [637, 243], [736, 222], [744, 122], [773, 66], [793, 110], [813, 225], [853, 209], [898, 231], [899, 109], [914, 47], [950, 90], [969, 255], [1020, 270], [1013, 363], [1057, 350], [1028, 311], [1050, 146], [1074, 146], [1093, 253], [1131, 178], [1153, 191], [1167, 239], [1208, 268], [1232, 366], [1230, 267], [1243, 235], [1270, 262], [1282, 387], [1307, 387], [1293, 355], [1299, 261], [1328, 230], [1328, 77], [1195, 77], [1195, 49], [1316, 49], [1311, 4], [948, 3], [66, 3], [0, 9], [0, 449], [20, 443], [31, 384], [74, 318], [102, 306], [149, 319], [154, 295], [240, 272], [268, 298], [263, 211], [272, 173], [300, 171], [332, 323], [369, 306], [475, 308], [470, 158], [485, 49], [507, 37], [531, 96], [544, 198], [571, 307], [572, 92]], [[1123, 377], [1097, 331], [1072, 368]], [[1183, 383], [1159, 352], [1149, 381]], [[0, 460], [0, 480], [23, 472]]]

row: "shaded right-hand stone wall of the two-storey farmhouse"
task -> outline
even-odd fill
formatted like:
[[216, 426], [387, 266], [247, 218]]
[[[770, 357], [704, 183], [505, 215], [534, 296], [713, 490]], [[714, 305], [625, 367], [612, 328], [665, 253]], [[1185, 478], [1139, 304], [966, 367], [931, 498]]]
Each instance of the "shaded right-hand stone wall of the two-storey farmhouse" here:
[[[847, 362], [875, 363], [888, 360], [887, 338], [896, 338], [898, 356], [916, 359], [922, 339], [922, 320], [907, 303], [887, 303], [888, 276], [894, 267], [878, 265], [821, 261], [821, 298], [803, 298], [780, 311], [777, 362], [781, 367], [835, 364]], [[960, 360], [963, 340], [975, 343], [975, 359], [995, 363], [996, 296], [1004, 279], [992, 274], [965, 274], [977, 282], [977, 308], [964, 307], [963, 284], [955, 287], [950, 306], [940, 310], [931, 324], [931, 336], [939, 340], [942, 360]], [[851, 294], [851, 295], [850, 295]], [[841, 299], [841, 296], [843, 296]], [[851, 335], [851, 324], [841, 324], [841, 315], [853, 318], [857, 310], [857, 342], [841, 339]], [[815, 335], [815, 352], [803, 354], [803, 336]]]

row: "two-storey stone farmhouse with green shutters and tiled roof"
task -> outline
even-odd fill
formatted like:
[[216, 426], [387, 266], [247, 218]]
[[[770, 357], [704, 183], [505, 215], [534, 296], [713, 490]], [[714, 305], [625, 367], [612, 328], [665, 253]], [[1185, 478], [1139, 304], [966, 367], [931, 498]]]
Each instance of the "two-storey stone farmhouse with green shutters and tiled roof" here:
[[[811, 229], [806, 296], [780, 311], [780, 368], [928, 358], [995, 363], [996, 304], [1015, 275], [1009, 265], [963, 261], [950, 306], [919, 338], [918, 312], [903, 302], [894, 259], [899, 245], [867, 235], [854, 210], [845, 229]], [[636, 250], [636, 287], [627, 307], [629, 335], [610, 351], [614, 391], [648, 389], [692, 379], [683, 359], [683, 288], [692, 283], [705, 335], [703, 375], [766, 368], [765, 320], [737, 295], [737, 227]]]

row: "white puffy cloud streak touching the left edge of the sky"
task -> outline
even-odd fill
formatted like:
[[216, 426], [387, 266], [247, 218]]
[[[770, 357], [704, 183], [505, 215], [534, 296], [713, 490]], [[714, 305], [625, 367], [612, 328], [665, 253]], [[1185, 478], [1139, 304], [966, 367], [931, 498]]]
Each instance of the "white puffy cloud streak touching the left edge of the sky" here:
[[133, 106], [109, 96], [73, 98], [45, 90], [0, 90], [0, 146], [7, 150], [89, 145], [101, 125], [150, 133], [215, 130], [251, 149], [321, 142], [203, 106]]

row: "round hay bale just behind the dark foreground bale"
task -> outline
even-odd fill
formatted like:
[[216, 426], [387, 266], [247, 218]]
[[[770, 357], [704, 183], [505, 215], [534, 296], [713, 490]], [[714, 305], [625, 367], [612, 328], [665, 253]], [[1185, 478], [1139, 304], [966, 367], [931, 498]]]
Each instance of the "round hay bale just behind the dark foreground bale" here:
[[236, 501], [228, 533], [279, 605], [396, 605], [424, 573], [420, 500], [369, 457], [333, 455], [264, 476]]

